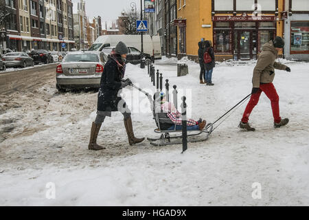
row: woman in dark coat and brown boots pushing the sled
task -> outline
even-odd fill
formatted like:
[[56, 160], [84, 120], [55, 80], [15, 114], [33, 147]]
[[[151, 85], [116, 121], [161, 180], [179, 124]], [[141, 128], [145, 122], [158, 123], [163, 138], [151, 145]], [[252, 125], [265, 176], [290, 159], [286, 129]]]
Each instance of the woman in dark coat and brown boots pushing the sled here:
[[144, 138], [135, 137], [130, 110], [126, 102], [119, 96], [119, 91], [132, 83], [130, 79], [122, 80], [126, 69], [126, 54], [128, 54], [128, 47], [120, 41], [104, 66], [98, 92], [97, 116], [91, 126], [89, 150], [99, 151], [104, 149], [103, 146], [97, 144], [97, 137], [104, 119], [106, 116], [111, 117], [112, 111], [120, 111], [124, 115], [124, 126], [130, 145], [144, 140]]

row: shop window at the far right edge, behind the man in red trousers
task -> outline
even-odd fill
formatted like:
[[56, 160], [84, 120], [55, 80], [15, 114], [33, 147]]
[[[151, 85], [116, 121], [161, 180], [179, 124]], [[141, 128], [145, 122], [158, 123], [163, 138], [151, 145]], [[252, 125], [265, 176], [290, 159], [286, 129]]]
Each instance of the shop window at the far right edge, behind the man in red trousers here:
[[291, 21], [290, 51], [293, 53], [309, 52], [309, 22]]

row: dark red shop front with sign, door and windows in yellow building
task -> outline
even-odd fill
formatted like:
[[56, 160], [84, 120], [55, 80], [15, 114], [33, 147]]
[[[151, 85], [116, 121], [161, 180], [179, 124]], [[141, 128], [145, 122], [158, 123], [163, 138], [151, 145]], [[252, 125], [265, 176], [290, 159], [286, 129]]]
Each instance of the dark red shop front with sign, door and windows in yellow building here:
[[214, 16], [213, 46], [218, 60], [257, 59], [264, 43], [275, 37], [275, 16]]

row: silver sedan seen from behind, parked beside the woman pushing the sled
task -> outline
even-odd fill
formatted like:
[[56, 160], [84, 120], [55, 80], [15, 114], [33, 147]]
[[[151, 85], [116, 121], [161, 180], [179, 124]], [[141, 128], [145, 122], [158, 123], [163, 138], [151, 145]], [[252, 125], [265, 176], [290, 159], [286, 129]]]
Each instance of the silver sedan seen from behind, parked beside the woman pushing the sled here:
[[108, 60], [102, 52], [70, 52], [56, 67], [56, 88], [100, 88], [104, 65]]

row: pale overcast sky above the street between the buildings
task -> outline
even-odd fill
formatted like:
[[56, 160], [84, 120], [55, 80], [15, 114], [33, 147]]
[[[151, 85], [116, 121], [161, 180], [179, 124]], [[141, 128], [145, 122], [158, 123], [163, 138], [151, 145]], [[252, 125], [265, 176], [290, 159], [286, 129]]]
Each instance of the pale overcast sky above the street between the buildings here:
[[[73, 12], [77, 11], [78, 2], [80, 0], [73, 1]], [[87, 17], [92, 19], [100, 15], [103, 21], [114, 21], [121, 14], [122, 10], [130, 9], [130, 3], [135, 2], [138, 8], [140, 8], [140, 0], [84, 0], [86, 3]], [[144, 0], [143, 0], [144, 1]]]

